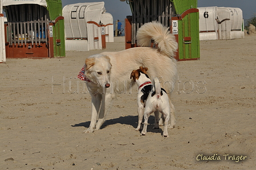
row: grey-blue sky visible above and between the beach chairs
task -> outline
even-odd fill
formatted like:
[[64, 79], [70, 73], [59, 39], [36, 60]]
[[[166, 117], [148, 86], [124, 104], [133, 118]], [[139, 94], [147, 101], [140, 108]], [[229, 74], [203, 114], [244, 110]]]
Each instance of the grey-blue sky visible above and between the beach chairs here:
[[[99, 0], [100, 1], [100, 0]], [[62, 6], [66, 6], [72, 3], [80, 2], [99, 2], [93, 0], [62, 0]], [[113, 15], [114, 21], [119, 19], [120, 21], [125, 21], [126, 15], [131, 15], [130, 6], [126, 2], [121, 2], [119, 0], [106, 0], [105, 8], [107, 13]], [[198, 7], [207, 6], [218, 6], [218, 7], [239, 7], [243, 11], [243, 18], [249, 19], [256, 14], [256, 1], [255, 0], [198, 0]], [[124, 25], [124, 23], [123, 23]]]

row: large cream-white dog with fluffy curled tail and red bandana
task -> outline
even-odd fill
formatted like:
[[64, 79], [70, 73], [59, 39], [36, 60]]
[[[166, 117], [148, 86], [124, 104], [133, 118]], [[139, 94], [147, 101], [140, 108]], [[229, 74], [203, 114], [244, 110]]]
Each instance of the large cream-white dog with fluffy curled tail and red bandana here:
[[[157, 48], [151, 46], [151, 39]], [[161, 23], [145, 23], [137, 32], [137, 44], [141, 47], [129, 48], [119, 52], [102, 52], [91, 55], [85, 61], [83, 80], [91, 94], [92, 114], [90, 127], [84, 132], [94, 132], [105, 122], [111, 98], [115, 92], [122, 92], [131, 82], [131, 71], [139, 66], [150, 67], [150, 76], [161, 78], [161, 86], [169, 94], [177, 76], [176, 60], [173, 58], [178, 44], [173, 34]], [[83, 77], [84, 76], [84, 77]], [[110, 87], [110, 88], [108, 88]], [[170, 102], [170, 128], [175, 125], [174, 106]], [[98, 122], [97, 122], [98, 118]]]

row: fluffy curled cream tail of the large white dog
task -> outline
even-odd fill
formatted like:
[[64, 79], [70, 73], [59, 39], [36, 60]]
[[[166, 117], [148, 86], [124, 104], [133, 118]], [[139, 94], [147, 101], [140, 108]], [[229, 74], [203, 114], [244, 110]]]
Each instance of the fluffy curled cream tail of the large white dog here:
[[137, 31], [137, 44], [141, 47], [150, 47], [151, 39], [158, 44], [158, 50], [167, 56], [174, 56], [178, 48], [175, 37], [170, 33], [169, 28], [159, 22], [145, 23]]

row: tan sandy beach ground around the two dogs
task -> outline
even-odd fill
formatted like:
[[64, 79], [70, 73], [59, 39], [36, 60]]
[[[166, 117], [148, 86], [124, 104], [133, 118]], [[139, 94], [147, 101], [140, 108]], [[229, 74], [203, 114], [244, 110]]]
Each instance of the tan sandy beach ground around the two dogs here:
[[[91, 98], [76, 78], [87, 56], [125, 49], [68, 51], [65, 58], [0, 64], [0, 169], [255, 169], [256, 35], [201, 41], [200, 60], [178, 62], [172, 101], [177, 124], [146, 136], [137, 94], [119, 94], [99, 131]], [[210, 159], [210, 160], [205, 160]]]

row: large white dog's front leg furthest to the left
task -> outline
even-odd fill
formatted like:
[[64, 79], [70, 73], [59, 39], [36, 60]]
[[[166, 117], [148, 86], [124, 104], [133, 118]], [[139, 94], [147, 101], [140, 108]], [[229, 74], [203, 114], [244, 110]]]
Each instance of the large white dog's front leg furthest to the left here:
[[94, 132], [99, 108], [101, 108], [102, 94], [91, 94], [91, 123], [83, 133]]

